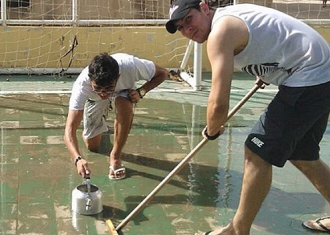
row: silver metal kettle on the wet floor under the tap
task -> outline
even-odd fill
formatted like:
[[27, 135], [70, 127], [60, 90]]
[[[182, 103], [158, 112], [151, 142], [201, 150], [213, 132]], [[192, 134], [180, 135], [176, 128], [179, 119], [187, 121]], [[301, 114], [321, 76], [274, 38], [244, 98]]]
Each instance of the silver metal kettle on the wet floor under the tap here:
[[72, 211], [81, 215], [98, 214], [103, 210], [101, 198], [102, 192], [90, 184], [90, 177], [86, 176], [84, 182], [72, 190]]

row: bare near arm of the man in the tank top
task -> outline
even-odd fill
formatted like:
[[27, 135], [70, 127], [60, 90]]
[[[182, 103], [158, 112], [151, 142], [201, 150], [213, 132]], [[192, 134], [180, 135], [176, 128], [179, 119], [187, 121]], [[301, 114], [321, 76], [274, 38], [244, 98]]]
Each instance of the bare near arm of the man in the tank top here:
[[244, 22], [225, 16], [213, 25], [207, 39], [207, 55], [211, 63], [211, 90], [207, 100], [208, 136], [214, 136], [227, 118], [233, 57], [247, 44], [248, 31]]

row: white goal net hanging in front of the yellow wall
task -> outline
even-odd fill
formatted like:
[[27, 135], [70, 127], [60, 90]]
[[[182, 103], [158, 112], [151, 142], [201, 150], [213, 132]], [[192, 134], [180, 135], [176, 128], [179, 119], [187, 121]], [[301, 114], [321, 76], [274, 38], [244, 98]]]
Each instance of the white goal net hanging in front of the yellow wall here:
[[[244, 2], [276, 8], [319, 30], [330, 18], [330, 8], [322, 0], [208, 0], [214, 7]], [[186, 53], [189, 41], [164, 30], [169, 4], [169, 0], [1, 0], [0, 73], [79, 72], [100, 52], [131, 53], [168, 68], [179, 68], [183, 62], [181, 69], [192, 72], [196, 63], [194, 50]]]

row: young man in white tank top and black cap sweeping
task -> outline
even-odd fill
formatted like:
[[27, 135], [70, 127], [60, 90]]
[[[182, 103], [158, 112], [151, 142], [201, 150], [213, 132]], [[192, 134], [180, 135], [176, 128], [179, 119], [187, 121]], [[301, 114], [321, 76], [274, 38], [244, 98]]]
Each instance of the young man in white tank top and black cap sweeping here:
[[[213, 9], [202, 0], [174, 1], [166, 29], [199, 43], [207, 40], [212, 84], [204, 138], [214, 140], [224, 131], [234, 67], [279, 88], [246, 138], [240, 201], [232, 221], [204, 235], [248, 235], [268, 194], [272, 166], [287, 161], [330, 204], [330, 169], [319, 159], [330, 110], [330, 47], [322, 36], [271, 8], [237, 4]], [[303, 227], [330, 232], [330, 217]]]

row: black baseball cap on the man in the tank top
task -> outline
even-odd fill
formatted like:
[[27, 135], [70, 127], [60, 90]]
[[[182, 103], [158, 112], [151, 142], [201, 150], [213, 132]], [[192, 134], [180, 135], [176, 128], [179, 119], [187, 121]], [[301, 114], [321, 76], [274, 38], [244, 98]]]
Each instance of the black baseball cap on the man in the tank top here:
[[169, 33], [176, 32], [175, 20], [182, 19], [190, 10], [197, 6], [201, 0], [176, 0], [169, 8], [169, 20], [166, 23], [166, 29]]

